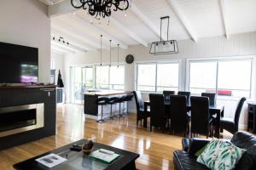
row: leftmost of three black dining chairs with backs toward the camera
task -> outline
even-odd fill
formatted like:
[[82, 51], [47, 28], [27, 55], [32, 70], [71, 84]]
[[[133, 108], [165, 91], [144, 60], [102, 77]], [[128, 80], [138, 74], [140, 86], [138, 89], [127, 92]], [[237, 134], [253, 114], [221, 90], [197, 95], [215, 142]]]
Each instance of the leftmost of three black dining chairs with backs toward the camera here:
[[166, 107], [163, 94], [149, 94], [150, 100], [150, 131], [152, 127], [166, 127]]

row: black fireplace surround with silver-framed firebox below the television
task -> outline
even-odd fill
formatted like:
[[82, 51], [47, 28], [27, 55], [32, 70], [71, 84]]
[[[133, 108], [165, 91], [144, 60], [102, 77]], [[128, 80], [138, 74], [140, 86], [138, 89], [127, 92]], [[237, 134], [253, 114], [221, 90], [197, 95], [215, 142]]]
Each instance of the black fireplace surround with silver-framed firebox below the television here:
[[[55, 135], [55, 93], [55, 86], [0, 87], [0, 150]], [[40, 119], [37, 119], [36, 108], [4, 112], [9, 108], [27, 105], [43, 107], [41, 111], [44, 113]], [[26, 127], [26, 130], [11, 132], [22, 127]]]

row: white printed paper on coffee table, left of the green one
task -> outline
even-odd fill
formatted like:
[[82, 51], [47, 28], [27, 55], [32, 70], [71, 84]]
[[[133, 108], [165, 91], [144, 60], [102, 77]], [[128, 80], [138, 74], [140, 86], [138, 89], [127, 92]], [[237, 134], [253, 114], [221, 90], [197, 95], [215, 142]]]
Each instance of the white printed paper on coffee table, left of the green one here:
[[[44, 159], [49, 159], [52, 162], [44, 161]], [[55, 154], [49, 154], [47, 156], [39, 157], [36, 159], [39, 163], [43, 164], [46, 167], [55, 167], [56, 165], [61, 164], [64, 161], [67, 161], [66, 158], [55, 155]]]

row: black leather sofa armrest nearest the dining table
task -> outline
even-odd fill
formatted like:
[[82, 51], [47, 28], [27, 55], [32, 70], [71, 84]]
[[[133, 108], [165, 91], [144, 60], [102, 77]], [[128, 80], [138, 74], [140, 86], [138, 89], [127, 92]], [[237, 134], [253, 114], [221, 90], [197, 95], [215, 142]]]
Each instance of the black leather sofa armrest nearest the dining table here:
[[201, 150], [206, 144], [208, 144], [211, 139], [199, 139], [199, 138], [192, 138], [189, 139], [189, 148], [188, 153], [189, 155], [195, 155], [198, 150]]

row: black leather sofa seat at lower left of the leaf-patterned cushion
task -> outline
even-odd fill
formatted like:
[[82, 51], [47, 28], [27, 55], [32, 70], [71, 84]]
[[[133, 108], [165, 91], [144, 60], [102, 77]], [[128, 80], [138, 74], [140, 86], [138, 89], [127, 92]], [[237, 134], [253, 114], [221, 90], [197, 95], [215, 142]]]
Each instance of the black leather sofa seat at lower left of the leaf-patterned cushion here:
[[173, 163], [175, 169], [210, 170], [207, 166], [198, 163], [195, 156], [189, 155], [184, 150], [175, 150], [173, 152]]

